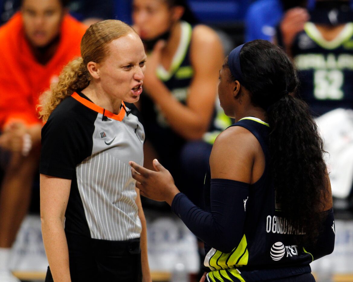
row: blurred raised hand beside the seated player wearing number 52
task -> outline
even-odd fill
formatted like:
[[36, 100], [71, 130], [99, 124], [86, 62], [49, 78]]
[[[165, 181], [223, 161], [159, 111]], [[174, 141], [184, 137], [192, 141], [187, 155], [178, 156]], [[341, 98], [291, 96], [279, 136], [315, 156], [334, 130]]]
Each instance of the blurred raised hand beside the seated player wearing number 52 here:
[[283, 43], [286, 48], [293, 44], [294, 37], [304, 29], [304, 24], [309, 20], [309, 12], [305, 8], [295, 7], [289, 9], [283, 16], [280, 29]]

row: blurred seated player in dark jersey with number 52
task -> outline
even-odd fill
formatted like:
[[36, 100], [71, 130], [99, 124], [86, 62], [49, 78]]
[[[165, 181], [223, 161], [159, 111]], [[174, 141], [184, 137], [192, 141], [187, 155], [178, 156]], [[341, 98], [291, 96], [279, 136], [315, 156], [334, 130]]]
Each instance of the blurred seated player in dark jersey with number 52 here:
[[317, 0], [300, 31], [286, 15], [280, 23], [282, 45], [299, 71], [299, 94], [316, 116], [353, 109], [352, 16], [349, 0]]

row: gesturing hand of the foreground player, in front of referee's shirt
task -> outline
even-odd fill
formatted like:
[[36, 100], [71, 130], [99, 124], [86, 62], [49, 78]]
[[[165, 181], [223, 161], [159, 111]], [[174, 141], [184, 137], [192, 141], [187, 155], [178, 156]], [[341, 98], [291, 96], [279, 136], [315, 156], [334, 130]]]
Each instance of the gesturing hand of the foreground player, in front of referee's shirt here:
[[153, 160], [153, 167], [156, 171], [149, 170], [137, 163], [130, 161], [132, 178], [136, 180], [136, 187], [144, 197], [156, 201], [166, 201], [172, 204], [174, 196], [180, 191], [174, 184], [174, 179], [156, 159]]

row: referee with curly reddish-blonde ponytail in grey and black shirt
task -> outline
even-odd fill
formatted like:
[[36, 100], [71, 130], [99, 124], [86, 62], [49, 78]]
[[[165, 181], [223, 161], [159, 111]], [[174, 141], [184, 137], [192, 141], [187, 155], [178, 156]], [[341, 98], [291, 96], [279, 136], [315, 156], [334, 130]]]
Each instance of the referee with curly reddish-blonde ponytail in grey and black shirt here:
[[142, 92], [144, 47], [130, 26], [105, 20], [86, 31], [81, 55], [42, 100], [46, 281], [151, 281], [128, 166], [143, 163], [144, 128], [130, 103]]

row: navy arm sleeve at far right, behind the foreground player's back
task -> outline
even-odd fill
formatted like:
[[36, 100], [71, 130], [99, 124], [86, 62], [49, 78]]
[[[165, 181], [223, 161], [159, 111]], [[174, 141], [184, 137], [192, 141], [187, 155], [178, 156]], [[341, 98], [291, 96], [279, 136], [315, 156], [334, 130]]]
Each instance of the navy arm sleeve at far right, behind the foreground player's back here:
[[313, 260], [326, 256], [333, 252], [335, 246], [335, 218], [333, 209], [324, 211], [324, 221], [316, 244], [305, 247], [305, 251], [311, 253]]

